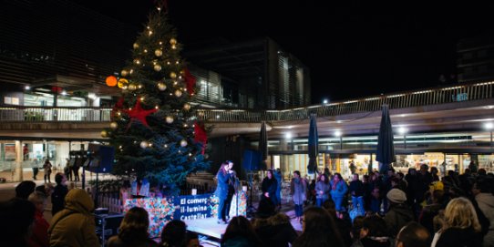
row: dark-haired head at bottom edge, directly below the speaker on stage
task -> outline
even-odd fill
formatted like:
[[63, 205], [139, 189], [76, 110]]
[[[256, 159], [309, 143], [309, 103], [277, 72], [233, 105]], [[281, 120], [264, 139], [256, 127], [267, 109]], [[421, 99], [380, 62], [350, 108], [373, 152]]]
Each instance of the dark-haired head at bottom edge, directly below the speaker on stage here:
[[251, 221], [243, 216], [232, 218], [225, 233], [221, 237], [221, 247], [228, 246], [262, 246], [262, 242], [254, 232]]

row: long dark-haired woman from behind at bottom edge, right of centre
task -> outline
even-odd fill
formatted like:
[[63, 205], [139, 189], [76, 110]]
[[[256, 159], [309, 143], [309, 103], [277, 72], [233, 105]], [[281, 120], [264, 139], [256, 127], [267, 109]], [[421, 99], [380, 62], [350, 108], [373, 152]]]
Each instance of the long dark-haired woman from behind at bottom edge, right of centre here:
[[333, 217], [321, 208], [308, 208], [302, 221], [303, 232], [293, 242], [293, 247], [345, 246]]

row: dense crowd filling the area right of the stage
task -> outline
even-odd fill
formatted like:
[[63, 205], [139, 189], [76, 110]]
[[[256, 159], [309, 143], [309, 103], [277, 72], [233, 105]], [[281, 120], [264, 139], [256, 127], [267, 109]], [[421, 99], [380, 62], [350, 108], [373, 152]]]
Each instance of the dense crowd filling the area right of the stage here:
[[[307, 201], [302, 205], [314, 204], [326, 211], [334, 207], [329, 212], [341, 246], [398, 246], [407, 231], [427, 244], [404, 246], [494, 246], [494, 176], [475, 165], [469, 167], [474, 171], [468, 168], [459, 175], [448, 170], [440, 178], [437, 168], [423, 164], [418, 171], [410, 168], [407, 175], [391, 168], [386, 174], [375, 171], [359, 180], [354, 173], [349, 182], [329, 170], [318, 173], [312, 182], [299, 181], [300, 173], [294, 171], [295, 217], [301, 217], [303, 194]], [[297, 190], [298, 183], [308, 184], [307, 190]]]

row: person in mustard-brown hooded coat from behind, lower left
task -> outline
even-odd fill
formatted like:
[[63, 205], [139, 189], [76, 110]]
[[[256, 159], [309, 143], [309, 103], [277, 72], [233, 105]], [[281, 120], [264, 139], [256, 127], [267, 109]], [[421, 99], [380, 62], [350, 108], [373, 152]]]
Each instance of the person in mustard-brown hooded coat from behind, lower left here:
[[65, 202], [65, 209], [59, 211], [50, 222], [48, 228], [50, 246], [100, 246], [95, 220], [91, 214], [94, 210], [94, 202], [86, 190], [69, 190]]

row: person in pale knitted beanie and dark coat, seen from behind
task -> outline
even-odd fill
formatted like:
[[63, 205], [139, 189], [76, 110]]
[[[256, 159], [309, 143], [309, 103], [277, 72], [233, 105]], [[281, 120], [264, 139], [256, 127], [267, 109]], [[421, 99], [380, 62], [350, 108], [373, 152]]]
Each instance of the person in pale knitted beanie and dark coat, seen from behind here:
[[386, 194], [389, 201], [389, 211], [385, 216], [387, 232], [390, 237], [396, 238], [396, 235], [409, 221], [414, 221], [414, 213], [408, 208], [407, 194], [399, 189], [389, 190]]

